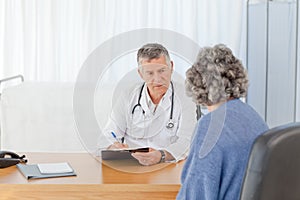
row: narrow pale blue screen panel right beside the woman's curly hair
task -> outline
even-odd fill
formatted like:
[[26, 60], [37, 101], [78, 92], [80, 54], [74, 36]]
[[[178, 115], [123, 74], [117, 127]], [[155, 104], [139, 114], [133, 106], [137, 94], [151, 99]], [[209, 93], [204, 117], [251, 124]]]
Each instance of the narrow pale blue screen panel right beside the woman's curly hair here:
[[248, 75], [249, 103], [263, 118], [265, 118], [266, 94], [266, 4], [251, 4], [248, 7]]

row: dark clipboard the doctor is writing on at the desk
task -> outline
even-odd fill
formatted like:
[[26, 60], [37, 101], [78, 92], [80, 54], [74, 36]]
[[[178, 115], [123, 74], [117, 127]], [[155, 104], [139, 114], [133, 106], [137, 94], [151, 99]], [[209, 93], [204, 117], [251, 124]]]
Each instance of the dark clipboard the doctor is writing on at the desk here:
[[149, 147], [135, 149], [106, 149], [101, 151], [102, 160], [135, 159], [131, 156], [135, 152], [149, 152]]

